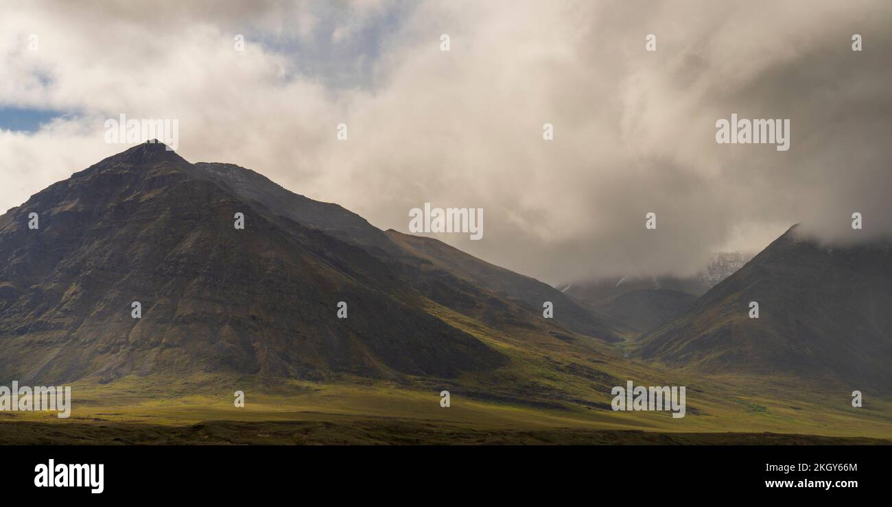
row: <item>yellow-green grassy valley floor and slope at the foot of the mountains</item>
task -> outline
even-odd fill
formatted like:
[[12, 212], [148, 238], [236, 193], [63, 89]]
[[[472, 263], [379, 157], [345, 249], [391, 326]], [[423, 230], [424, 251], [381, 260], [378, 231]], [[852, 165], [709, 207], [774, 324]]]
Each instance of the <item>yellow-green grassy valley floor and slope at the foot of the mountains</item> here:
[[[128, 376], [73, 384], [70, 419], [0, 413], [4, 443], [875, 443], [892, 400], [794, 377], [713, 375], [645, 364], [623, 348], [541, 327], [499, 331], [428, 301], [425, 310], [510, 358], [459, 379], [337, 376], [325, 382], [226, 375]], [[614, 412], [610, 388], [687, 387], [687, 415]], [[439, 404], [442, 389], [450, 408]], [[235, 408], [243, 390], [246, 406]], [[768, 433], [769, 435], [766, 435]], [[758, 435], [755, 435], [758, 434]], [[784, 434], [777, 436], [774, 434]], [[794, 436], [791, 436], [794, 435]]]

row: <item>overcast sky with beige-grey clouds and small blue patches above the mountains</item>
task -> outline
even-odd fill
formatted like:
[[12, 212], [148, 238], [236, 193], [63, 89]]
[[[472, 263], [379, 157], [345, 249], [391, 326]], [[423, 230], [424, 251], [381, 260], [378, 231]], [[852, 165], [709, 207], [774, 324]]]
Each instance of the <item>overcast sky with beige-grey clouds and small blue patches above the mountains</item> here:
[[[126, 149], [103, 141], [125, 113], [178, 119], [187, 160], [252, 168], [382, 229], [408, 232], [425, 202], [482, 208], [482, 240], [436, 237], [551, 283], [686, 274], [797, 222], [851, 236], [854, 211], [859, 237], [892, 229], [884, 0], [2, 9], [4, 210]], [[789, 119], [789, 151], [716, 143], [731, 113]]]

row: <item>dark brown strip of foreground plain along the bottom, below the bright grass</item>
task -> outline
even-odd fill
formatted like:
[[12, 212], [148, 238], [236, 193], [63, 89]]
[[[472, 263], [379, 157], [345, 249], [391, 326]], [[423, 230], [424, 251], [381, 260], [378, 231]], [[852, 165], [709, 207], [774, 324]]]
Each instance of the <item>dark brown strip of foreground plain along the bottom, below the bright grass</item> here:
[[6, 445], [524, 445], [524, 446], [869, 446], [892, 441], [777, 433], [657, 433], [638, 430], [492, 430], [406, 421], [210, 421], [188, 426], [133, 423], [0, 425]]

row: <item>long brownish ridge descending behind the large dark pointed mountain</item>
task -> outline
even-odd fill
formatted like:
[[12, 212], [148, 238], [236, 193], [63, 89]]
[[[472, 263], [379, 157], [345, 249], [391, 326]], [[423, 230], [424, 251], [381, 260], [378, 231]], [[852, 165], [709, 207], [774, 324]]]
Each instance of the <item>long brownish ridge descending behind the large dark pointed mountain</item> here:
[[[190, 167], [190, 174], [222, 185], [273, 214], [366, 249], [390, 266], [402, 282], [463, 314], [491, 324], [525, 325], [524, 320], [540, 319], [542, 304], [551, 301], [556, 307], [554, 322], [559, 326], [606, 341], [616, 339], [615, 327], [606, 318], [547, 283], [493, 266], [442, 241], [381, 231], [337, 204], [308, 199], [233, 164], [198, 162]], [[482, 298], [486, 304], [475, 310]], [[506, 317], [506, 313], [512, 315]]]

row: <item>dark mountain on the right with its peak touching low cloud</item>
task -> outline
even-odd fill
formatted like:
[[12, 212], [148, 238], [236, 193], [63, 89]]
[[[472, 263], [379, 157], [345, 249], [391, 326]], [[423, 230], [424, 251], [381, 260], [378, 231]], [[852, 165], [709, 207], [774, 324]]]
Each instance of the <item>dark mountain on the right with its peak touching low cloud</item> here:
[[[749, 317], [749, 303], [759, 317]], [[683, 315], [640, 339], [640, 356], [705, 372], [892, 380], [892, 245], [823, 246], [794, 226]]]

